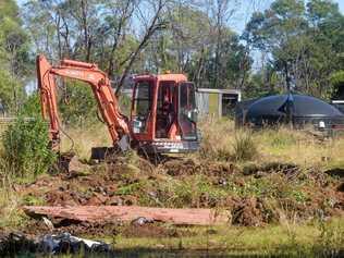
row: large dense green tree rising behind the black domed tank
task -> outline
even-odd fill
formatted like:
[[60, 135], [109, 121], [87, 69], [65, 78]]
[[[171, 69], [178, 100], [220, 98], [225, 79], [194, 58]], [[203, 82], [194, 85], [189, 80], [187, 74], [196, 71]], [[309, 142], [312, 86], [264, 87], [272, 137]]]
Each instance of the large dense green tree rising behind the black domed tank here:
[[344, 16], [329, 0], [275, 0], [256, 12], [243, 38], [265, 52], [279, 74], [275, 87], [329, 98], [330, 74], [343, 67]]

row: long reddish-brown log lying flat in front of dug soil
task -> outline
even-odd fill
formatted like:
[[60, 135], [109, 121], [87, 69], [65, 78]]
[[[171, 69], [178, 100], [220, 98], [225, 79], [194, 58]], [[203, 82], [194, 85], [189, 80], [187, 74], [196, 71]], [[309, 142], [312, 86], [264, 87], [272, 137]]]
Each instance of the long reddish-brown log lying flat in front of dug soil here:
[[230, 222], [226, 210], [214, 209], [168, 209], [138, 206], [25, 206], [23, 210], [33, 218], [48, 217], [77, 222], [108, 223], [131, 222], [138, 218], [177, 225], [212, 225]]

